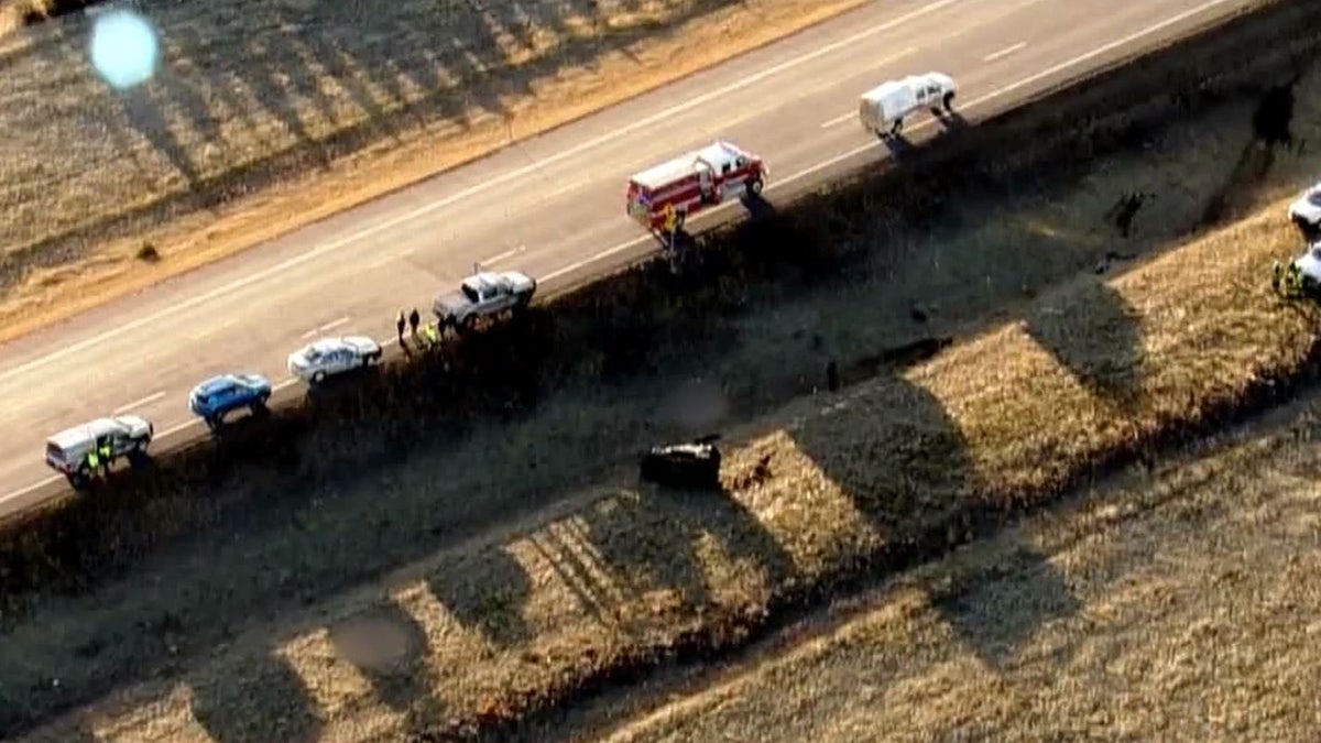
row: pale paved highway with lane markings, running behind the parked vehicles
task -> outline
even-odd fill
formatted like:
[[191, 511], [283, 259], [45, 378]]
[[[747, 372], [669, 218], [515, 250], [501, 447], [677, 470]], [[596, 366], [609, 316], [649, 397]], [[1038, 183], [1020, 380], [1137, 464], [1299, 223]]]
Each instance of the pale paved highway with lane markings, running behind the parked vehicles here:
[[[1247, 0], [878, 0], [243, 255], [180, 276], [0, 350], [0, 513], [66, 489], [48, 435], [110, 412], [156, 423], [161, 444], [203, 436], [186, 407], [211, 374], [255, 370], [299, 394], [285, 356], [317, 334], [392, 342], [400, 305], [431, 299], [474, 263], [538, 276], [543, 291], [655, 250], [624, 214], [627, 177], [727, 137], [766, 157], [777, 202], [886, 148], [856, 120], [857, 95], [910, 73], [960, 85], [976, 122]], [[941, 124], [919, 114], [910, 140]], [[690, 221], [691, 230], [741, 209]]]

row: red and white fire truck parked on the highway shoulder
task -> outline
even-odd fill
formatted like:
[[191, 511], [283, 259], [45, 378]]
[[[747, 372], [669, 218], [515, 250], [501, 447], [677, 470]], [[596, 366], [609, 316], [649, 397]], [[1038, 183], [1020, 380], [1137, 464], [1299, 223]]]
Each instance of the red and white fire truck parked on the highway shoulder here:
[[757, 196], [769, 175], [760, 156], [716, 140], [629, 178], [627, 214], [650, 230], [674, 231], [701, 209]]

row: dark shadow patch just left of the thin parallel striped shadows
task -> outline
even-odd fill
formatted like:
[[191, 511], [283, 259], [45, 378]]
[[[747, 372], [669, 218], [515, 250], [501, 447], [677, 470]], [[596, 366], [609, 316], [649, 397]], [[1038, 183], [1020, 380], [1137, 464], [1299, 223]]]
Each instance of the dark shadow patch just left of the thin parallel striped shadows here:
[[531, 637], [523, 607], [532, 586], [527, 570], [505, 547], [446, 562], [427, 584], [456, 620], [489, 643], [507, 648]]

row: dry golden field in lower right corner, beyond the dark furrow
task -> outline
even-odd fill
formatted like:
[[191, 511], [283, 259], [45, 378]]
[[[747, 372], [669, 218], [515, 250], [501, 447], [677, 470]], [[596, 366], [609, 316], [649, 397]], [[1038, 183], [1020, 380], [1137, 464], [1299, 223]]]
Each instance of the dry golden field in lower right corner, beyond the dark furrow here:
[[1321, 397], [538, 740], [1312, 740]]

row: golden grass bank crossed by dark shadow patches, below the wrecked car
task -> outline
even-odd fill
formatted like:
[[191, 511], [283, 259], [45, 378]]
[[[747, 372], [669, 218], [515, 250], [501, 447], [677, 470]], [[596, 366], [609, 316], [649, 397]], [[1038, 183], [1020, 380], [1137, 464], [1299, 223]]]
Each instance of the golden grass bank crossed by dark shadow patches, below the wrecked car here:
[[[1263, 272], [1297, 242], [1280, 208], [1054, 291], [1029, 321], [908, 373], [787, 406], [728, 452], [723, 494], [605, 488], [503, 543], [411, 566], [388, 599], [322, 607], [273, 649], [236, 643], [186, 685], [147, 685], [83, 724], [115, 740], [390, 739], [494, 723], [620, 669], [741, 644], [843, 576], [963, 542], [984, 528], [978, 514], [1049, 500], [1304, 373], [1321, 313], [1283, 304]], [[765, 456], [770, 479], [750, 480]], [[338, 645], [346, 623], [369, 620], [400, 637], [395, 656]]]

